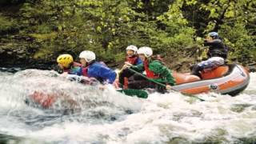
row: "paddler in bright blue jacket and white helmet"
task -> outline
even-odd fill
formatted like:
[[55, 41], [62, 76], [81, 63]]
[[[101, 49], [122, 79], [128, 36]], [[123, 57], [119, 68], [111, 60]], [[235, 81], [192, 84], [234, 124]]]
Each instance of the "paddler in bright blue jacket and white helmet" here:
[[96, 78], [102, 84], [113, 84], [116, 73], [102, 62], [96, 62], [96, 55], [90, 50], [84, 50], [79, 54], [82, 64], [82, 75]]

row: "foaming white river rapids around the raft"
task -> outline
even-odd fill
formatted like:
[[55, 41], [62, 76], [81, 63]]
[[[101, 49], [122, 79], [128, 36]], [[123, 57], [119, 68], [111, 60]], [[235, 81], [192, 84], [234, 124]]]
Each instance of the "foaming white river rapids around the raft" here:
[[[0, 143], [255, 143], [256, 74], [236, 97], [153, 93], [128, 97], [84, 86], [49, 70], [0, 72]], [[79, 108], [26, 104], [35, 90], [61, 93]]]

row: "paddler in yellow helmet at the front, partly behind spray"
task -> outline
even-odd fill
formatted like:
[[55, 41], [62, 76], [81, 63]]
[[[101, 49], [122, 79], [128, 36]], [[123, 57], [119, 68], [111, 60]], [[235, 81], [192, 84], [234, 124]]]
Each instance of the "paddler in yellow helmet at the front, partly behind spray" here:
[[82, 75], [81, 64], [74, 62], [73, 57], [70, 54], [61, 54], [57, 58], [58, 72], [61, 74], [75, 74]]

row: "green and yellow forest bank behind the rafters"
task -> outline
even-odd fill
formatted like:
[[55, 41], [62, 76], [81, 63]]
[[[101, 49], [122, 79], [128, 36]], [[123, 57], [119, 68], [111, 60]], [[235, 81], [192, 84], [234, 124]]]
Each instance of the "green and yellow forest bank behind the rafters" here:
[[59, 54], [92, 50], [114, 67], [135, 45], [184, 71], [205, 57], [211, 31], [229, 47], [230, 62], [252, 65], [255, 11], [254, 0], [0, 0], [0, 66], [45, 68]]

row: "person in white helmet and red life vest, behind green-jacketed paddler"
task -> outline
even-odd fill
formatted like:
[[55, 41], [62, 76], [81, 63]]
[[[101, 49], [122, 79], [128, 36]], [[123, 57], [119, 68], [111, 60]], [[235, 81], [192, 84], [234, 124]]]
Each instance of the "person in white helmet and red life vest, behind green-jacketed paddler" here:
[[[142, 64], [141, 58], [138, 58], [137, 51], [138, 51], [137, 46], [130, 45], [126, 47], [126, 62], [125, 62], [126, 65], [137, 66], [139, 64]], [[124, 83], [124, 78], [126, 77], [126, 75], [130, 75], [130, 74], [134, 74], [134, 73], [132, 73], [128, 69], [124, 69], [124, 67], [120, 70], [118, 82], [121, 83], [121, 85], [119, 85], [118, 87], [122, 88], [122, 85]]]

